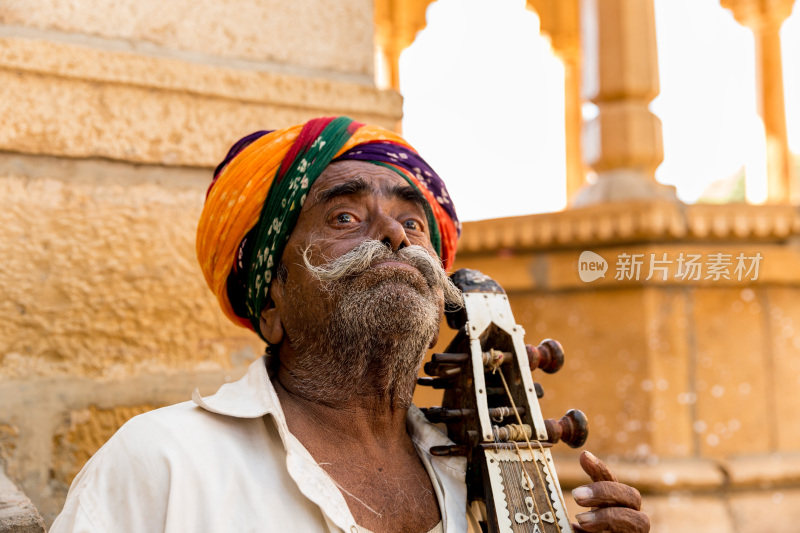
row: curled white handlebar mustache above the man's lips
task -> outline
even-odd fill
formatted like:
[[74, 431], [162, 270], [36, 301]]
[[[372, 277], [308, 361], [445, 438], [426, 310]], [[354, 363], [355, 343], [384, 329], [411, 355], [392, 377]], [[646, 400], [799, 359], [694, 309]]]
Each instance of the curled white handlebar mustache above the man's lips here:
[[314, 277], [325, 283], [358, 275], [384, 261], [406, 263], [420, 271], [429, 287], [442, 290], [448, 309], [458, 309], [463, 305], [461, 291], [450, 281], [440, 262], [422, 246], [412, 244], [393, 252], [381, 241], [370, 239], [361, 242], [346, 254], [321, 265], [311, 264], [310, 256], [311, 245], [303, 250], [303, 263]]

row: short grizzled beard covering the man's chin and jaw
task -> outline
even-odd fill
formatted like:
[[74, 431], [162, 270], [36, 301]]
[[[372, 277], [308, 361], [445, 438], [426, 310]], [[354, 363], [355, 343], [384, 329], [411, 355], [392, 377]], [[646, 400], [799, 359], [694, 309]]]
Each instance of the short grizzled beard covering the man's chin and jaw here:
[[425, 278], [369, 269], [327, 282], [321, 299], [331, 307], [327, 322], [285, 325], [297, 354], [289, 369], [297, 392], [332, 406], [357, 395], [377, 396], [392, 408], [411, 405], [420, 364], [439, 330], [439, 299]]

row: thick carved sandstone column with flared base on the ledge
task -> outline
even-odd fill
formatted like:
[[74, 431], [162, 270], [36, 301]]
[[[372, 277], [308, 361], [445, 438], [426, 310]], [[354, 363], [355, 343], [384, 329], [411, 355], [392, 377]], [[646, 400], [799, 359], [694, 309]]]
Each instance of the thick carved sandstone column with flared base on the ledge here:
[[648, 109], [659, 91], [653, 0], [583, 0], [581, 17], [583, 95], [598, 109], [584, 153], [597, 180], [573, 205], [675, 199], [655, 181], [664, 153], [661, 121]]

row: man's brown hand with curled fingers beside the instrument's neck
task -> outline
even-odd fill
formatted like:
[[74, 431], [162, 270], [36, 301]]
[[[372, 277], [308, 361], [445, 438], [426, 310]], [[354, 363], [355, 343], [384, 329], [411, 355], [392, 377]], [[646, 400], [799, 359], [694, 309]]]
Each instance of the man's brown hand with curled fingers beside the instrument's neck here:
[[619, 483], [617, 477], [600, 459], [589, 452], [580, 457], [581, 467], [594, 483], [583, 485], [572, 491], [578, 505], [592, 510], [580, 513], [573, 524], [576, 532], [595, 533], [647, 533], [650, 519], [639, 509], [642, 496], [635, 488]]

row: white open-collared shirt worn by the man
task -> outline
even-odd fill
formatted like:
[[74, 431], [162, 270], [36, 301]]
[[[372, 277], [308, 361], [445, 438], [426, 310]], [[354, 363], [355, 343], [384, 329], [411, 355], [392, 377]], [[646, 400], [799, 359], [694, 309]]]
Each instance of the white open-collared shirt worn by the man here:
[[[289, 432], [263, 358], [192, 400], [123, 425], [75, 477], [51, 533], [358, 531], [333, 480]], [[443, 530], [467, 531], [466, 459], [430, 455], [452, 443], [416, 407], [407, 421]]]

